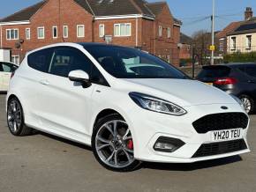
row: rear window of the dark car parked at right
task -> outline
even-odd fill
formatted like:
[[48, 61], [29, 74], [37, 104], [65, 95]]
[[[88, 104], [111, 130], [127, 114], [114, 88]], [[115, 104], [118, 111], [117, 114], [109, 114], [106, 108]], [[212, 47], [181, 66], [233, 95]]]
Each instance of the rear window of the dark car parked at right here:
[[230, 68], [225, 66], [204, 67], [198, 78], [225, 78], [230, 75]]

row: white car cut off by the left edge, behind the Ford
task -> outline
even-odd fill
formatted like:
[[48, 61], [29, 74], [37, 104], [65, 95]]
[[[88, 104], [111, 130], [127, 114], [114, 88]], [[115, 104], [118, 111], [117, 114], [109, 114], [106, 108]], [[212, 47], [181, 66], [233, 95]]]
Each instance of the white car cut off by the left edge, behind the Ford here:
[[0, 92], [7, 92], [11, 73], [18, 69], [18, 65], [9, 62], [0, 62]]

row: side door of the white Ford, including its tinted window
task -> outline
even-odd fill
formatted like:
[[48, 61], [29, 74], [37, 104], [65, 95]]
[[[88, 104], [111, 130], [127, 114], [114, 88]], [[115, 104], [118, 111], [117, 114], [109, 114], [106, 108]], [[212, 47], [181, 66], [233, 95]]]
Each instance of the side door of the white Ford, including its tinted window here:
[[95, 85], [83, 88], [72, 82], [72, 70], [84, 70], [90, 75], [93, 63], [77, 48], [58, 47], [49, 64], [48, 73], [41, 78], [38, 102], [43, 127], [62, 134], [87, 134], [87, 116], [91, 110], [91, 96]]

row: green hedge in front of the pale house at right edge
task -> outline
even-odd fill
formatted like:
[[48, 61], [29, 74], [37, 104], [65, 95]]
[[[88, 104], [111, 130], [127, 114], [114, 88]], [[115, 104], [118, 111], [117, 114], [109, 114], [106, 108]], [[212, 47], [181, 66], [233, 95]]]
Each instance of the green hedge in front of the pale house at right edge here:
[[224, 63], [256, 63], [256, 52], [224, 55]]

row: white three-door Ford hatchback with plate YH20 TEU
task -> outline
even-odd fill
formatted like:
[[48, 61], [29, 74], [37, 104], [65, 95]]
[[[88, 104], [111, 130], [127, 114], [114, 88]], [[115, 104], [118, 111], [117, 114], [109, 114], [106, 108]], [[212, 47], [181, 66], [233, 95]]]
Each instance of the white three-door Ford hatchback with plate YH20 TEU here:
[[237, 98], [138, 49], [95, 43], [36, 49], [11, 78], [6, 103], [14, 136], [39, 129], [91, 145], [113, 171], [249, 152], [249, 117]]

